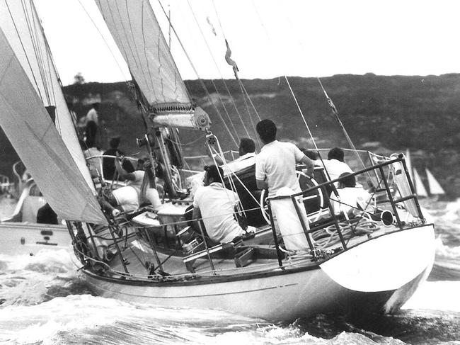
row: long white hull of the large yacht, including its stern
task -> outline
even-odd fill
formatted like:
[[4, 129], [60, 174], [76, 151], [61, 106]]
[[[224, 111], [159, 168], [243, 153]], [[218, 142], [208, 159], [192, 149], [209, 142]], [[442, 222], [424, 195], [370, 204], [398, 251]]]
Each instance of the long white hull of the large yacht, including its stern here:
[[[417, 242], [418, 237], [422, 237], [421, 242], [423, 243], [419, 241], [421, 246], [411, 246], [410, 242]], [[403, 241], [403, 243], [398, 244], [398, 241]], [[328, 273], [317, 265], [303, 268], [290, 266], [284, 271], [278, 268], [265, 271], [265, 275], [254, 273], [253, 276], [214, 276], [214, 281], [207, 278], [206, 281], [195, 279], [175, 283], [130, 281], [104, 278], [88, 271], [84, 273], [93, 290], [98, 295], [108, 298], [117, 298], [142, 305], [209, 308], [267, 320], [289, 320], [319, 312], [381, 310], [393, 293], [403, 288], [410, 294], [396, 293], [391, 301], [392, 305], [401, 305], [413, 293], [415, 285], [420, 283], [420, 276], [430, 271], [435, 253], [434, 242], [432, 225], [386, 234], [357, 245], [326, 261], [321, 266], [327, 264]], [[425, 257], [423, 265], [415, 265], [412, 260], [389, 261], [388, 266], [390, 267], [381, 272], [379, 281], [393, 280], [393, 283], [385, 283], [384, 286], [388, 287], [398, 282], [400, 285], [397, 288], [379, 290], [374, 284], [372, 291], [365, 291], [365, 288], [351, 290], [330, 278], [330, 275], [337, 275], [340, 270], [343, 273], [351, 272], [350, 274], [355, 276], [363, 287], [369, 285], [371, 277], [364, 269], [369, 266], [369, 261], [375, 261], [373, 258], [384, 260], [389, 256], [401, 254], [387, 247], [389, 243], [396, 244], [395, 249], [402, 247], [408, 251], [408, 255], [404, 255], [405, 258], [412, 255], [418, 259], [420, 256]], [[427, 252], [427, 248], [431, 249]], [[348, 268], [343, 266], [344, 262], [350, 261], [347, 258], [355, 256], [363, 259], [362, 254], [369, 254], [369, 252], [373, 254], [372, 257], [367, 258], [367, 261], [355, 261], [353, 266]], [[347, 257], [343, 258], [344, 255]], [[360, 272], [363, 272], [363, 275]], [[396, 280], [393, 279], [394, 274], [391, 272], [398, 272]], [[378, 271], [376, 276], [379, 276]], [[335, 278], [344, 285], [347, 284], [346, 281], [343, 281], [343, 277]], [[386, 310], [389, 310], [388, 306]]]

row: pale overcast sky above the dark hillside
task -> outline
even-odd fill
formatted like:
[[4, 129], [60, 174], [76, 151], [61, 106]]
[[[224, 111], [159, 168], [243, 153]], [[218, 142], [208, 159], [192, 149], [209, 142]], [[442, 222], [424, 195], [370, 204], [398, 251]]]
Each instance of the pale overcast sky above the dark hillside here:
[[[86, 81], [130, 79], [93, 0], [35, 2], [64, 85], [77, 72]], [[159, 1], [151, 4], [168, 40]], [[224, 36], [241, 78], [460, 72], [460, 1], [214, 0], [217, 14], [211, 0], [161, 4], [202, 78], [233, 77]], [[183, 79], [196, 79], [176, 38], [171, 51]]]

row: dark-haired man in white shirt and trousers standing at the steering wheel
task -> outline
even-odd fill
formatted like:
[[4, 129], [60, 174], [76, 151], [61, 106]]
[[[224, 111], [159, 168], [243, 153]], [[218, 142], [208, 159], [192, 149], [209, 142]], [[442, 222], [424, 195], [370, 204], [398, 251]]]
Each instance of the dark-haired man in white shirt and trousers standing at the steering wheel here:
[[[255, 157], [255, 181], [258, 188], [268, 188], [268, 197], [292, 195], [301, 192], [296, 174], [296, 163], [306, 165], [306, 174], [313, 176], [314, 162], [290, 142], [276, 140], [277, 128], [272, 120], [262, 120], [255, 128], [264, 146]], [[304, 222], [306, 211], [301, 200], [297, 200]], [[309, 249], [297, 210], [290, 198], [271, 200], [270, 207], [276, 218], [284, 245], [290, 251]]]

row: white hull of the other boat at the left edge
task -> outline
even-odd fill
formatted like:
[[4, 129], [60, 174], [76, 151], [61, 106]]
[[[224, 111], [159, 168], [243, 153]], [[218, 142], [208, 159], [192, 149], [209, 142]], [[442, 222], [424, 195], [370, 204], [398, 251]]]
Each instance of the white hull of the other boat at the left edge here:
[[0, 222], [0, 254], [37, 254], [41, 249], [69, 249], [71, 238], [65, 225]]

